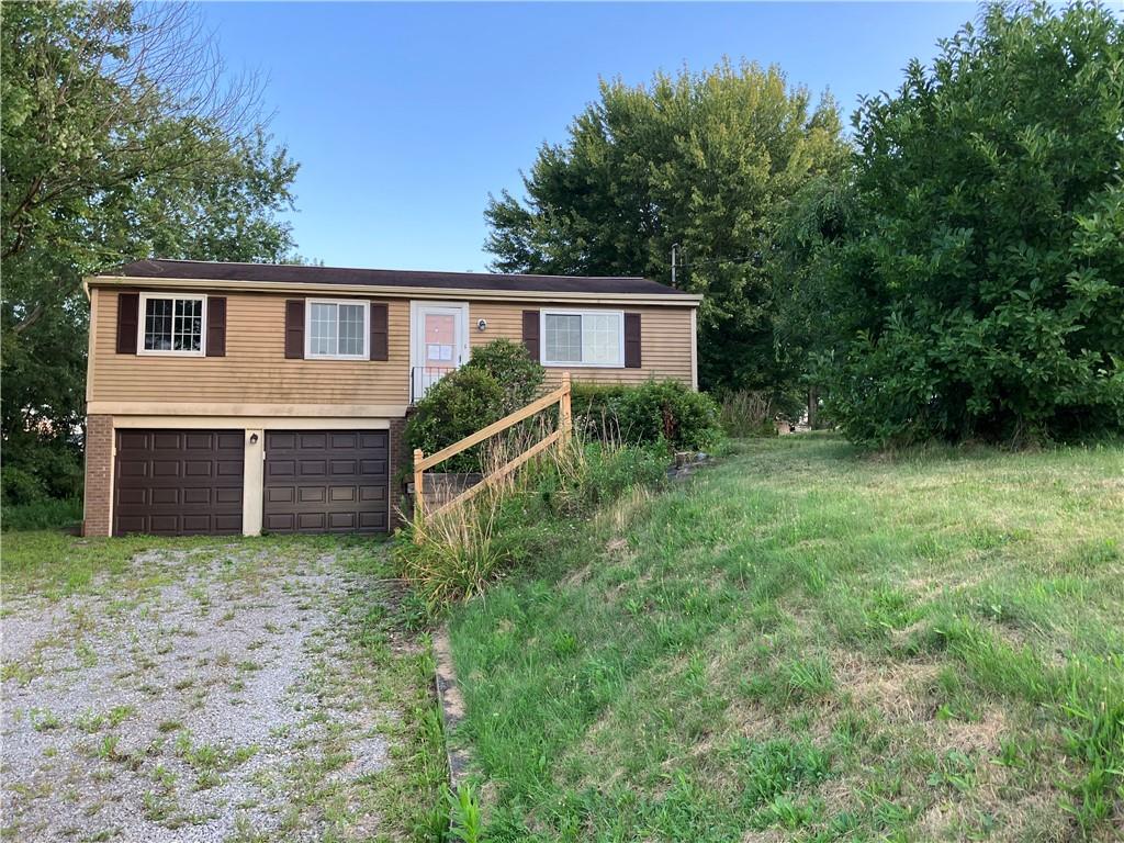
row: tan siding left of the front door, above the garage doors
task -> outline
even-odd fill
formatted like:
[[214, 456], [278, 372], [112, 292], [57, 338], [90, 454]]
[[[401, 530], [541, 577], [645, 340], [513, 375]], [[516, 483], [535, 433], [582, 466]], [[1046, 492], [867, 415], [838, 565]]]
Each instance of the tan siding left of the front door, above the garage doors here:
[[[117, 354], [117, 291], [94, 289], [91, 401], [406, 405], [410, 305], [388, 300], [386, 361], [285, 360], [284, 296], [227, 297], [225, 357]], [[293, 297], [297, 298], [297, 297]]]

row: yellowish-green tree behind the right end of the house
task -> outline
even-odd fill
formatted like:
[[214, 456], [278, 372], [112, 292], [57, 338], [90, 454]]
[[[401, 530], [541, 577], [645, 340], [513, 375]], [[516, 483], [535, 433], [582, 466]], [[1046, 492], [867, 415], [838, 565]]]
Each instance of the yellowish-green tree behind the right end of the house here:
[[544, 145], [526, 197], [489, 201], [487, 248], [502, 272], [645, 275], [706, 294], [699, 374], [706, 387], [772, 387], [769, 253], [780, 209], [845, 161], [834, 102], [812, 103], [777, 67], [602, 82], [599, 101]]

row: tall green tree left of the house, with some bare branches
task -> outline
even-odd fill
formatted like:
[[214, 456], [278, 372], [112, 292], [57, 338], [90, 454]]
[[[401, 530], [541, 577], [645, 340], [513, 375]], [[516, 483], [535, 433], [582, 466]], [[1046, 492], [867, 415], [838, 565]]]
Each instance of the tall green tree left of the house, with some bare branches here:
[[4, 3], [0, 28], [4, 492], [73, 493], [82, 278], [148, 256], [284, 260], [297, 165], [188, 6]]

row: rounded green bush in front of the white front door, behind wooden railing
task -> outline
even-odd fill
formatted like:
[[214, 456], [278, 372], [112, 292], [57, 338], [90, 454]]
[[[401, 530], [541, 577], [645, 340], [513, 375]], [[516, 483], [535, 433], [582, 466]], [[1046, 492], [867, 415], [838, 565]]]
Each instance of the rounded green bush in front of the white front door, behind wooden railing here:
[[[402, 434], [406, 447], [432, 454], [487, 427], [529, 404], [544, 374], [527, 350], [509, 339], [474, 350], [468, 363], [437, 381], [418, 401]], [[482, 448], [471, 447], [436, 470], [480, 471]]]

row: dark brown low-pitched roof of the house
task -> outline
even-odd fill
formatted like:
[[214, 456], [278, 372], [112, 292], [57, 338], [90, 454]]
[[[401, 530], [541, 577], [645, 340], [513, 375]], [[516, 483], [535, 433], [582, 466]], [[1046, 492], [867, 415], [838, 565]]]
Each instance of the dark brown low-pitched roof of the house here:
[[223, 281], [247, 284], [342, 284], [352, 287], [407, 287], [428, 290], [484, 290], [491, 292], [601, 293], [610, 296], [690, 296], [646, 278], [581, 275], [505, 275], [488, 272], [419, 272], [302, 266], [273, 263], [209, 261], [135, 261], [111, 278], [183, 281]]

